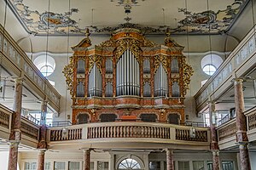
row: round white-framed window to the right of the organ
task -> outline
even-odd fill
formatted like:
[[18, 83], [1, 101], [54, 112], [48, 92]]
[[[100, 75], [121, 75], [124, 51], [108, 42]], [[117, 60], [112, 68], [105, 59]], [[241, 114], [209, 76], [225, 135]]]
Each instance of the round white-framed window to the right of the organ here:
[[217, 54], [207, 54], [201, 59], [201, 69], [207, 75], [212, 76], [222, 62], [223, 59]]

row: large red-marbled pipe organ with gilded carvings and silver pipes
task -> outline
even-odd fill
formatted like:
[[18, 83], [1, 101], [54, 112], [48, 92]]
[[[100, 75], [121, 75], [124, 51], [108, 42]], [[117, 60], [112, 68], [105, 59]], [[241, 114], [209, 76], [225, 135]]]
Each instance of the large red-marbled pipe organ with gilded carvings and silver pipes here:
[[148, 122], [184, 122], [183, 100], [193, 71], [182, 52], [168, 33], [158, 45], [137, 29], [123, 28], [92, 46], [87, 32], [63, 71], [73, 123], [147, 122], [147, 117]]

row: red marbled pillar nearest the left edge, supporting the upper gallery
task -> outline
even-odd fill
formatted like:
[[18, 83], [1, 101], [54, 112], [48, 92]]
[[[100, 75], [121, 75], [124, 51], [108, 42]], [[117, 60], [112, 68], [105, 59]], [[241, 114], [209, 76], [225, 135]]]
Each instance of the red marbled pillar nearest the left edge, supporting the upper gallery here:
[[12, 116], [11, 133], [9, 135], [9, 170], [17, 169], [18, 148], [21, 139], [21, 102], [22, 102], [22, 78], [15, 79], [14, 114]]

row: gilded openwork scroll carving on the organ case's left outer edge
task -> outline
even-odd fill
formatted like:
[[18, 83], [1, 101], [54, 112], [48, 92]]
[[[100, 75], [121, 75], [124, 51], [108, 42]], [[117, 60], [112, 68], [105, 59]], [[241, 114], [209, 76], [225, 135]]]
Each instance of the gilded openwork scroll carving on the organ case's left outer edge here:
[[67, 89], [70, 90], [70, 95], [73, 96], [73, 56], [70, 57], [70, 63], [65, 65], [62, 73], [66, 77]]

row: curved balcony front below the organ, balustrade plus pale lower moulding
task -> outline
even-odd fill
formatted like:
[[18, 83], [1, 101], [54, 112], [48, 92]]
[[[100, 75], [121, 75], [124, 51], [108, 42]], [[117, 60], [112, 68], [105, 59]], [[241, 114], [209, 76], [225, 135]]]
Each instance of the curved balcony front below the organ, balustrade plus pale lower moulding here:
[[174, 147], [177, 149], [208, 150], [210, 131], [207, 127], [195, 127], [195, 138], [191, 127], [150, 122], [104, 122], [50, 127], [48, 129], [49, 149], [60, 145], [72, 145], [82, 149], [90, 145], [105, 148], [132, 148], [146, 146]]

